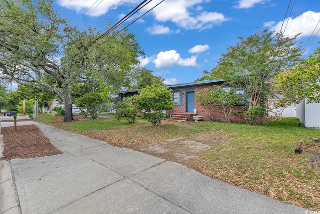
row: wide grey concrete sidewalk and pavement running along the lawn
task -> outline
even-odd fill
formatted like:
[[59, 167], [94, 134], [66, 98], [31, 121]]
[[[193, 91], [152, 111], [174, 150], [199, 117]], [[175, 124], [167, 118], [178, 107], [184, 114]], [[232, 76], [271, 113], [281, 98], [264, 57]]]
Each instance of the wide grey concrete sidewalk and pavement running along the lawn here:
[[307, 211], [210, 179], [177, 163], [37, 122], [19, 122], [26, 124], [38, 126], [63, 154], [0, 161], [0, 212], [4, 214], [304, 214]]

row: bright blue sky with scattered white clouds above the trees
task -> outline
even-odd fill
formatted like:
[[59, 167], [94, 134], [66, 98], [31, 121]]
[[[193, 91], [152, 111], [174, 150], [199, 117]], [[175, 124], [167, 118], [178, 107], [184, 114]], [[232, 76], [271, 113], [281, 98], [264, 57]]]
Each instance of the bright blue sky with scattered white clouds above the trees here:
[[[103, 31], [141, 1], [55, 0], [53, 6], [72, 25]], [[141, 13], [158, 2], [152, 0]], [[282, 31], [288, 36], [302, 32], [297, 42], [306, 45], [305, 58], [320, 45], [320, 0], [164, 0], [128, 29], [145, 52], [142, 66], [165, 84], [187, 83], [210, 71], [238, 36], [247, 37], [257, 27], [279, 31], [288, 7]]]

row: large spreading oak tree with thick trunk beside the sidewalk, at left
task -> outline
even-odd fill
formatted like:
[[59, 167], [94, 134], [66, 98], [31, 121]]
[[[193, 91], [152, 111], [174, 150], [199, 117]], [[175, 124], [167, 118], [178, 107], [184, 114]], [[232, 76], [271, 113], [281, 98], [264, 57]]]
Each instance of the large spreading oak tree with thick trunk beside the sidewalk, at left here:
[[64, 102], [64, 121], [71, 121], [74, 84], [84, 82], [90, 90], [98, 80], [121, 87], [138, 63], [134, 57], [143, 52], [134, 35], [125, 31], [102, 38], [95, 29], [69, 26], [52, 3], [1, 1], [0, 78], [53, 92]]

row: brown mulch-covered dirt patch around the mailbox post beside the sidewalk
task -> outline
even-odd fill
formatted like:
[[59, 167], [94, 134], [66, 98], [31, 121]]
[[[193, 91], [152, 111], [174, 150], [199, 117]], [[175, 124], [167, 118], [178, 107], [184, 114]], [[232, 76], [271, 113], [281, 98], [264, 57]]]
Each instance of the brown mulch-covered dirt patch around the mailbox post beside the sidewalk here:
[[[3, 122], [3, 121], [1, 121]], [[0, 160], [36, 158], [62, 154], [35, 125], [1, 128], [3, 151]]]

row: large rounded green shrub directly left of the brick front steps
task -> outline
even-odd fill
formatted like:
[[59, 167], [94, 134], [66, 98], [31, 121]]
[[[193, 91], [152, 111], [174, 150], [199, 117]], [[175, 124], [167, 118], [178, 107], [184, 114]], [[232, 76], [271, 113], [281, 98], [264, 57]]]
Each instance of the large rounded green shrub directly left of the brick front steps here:
[[165, 114], [163, 111], [173, 109], [172, 90], [163, 85], [150, 85], [134, 95], [138, 103], [138, 108], [144, 118], [152, 123], [153, 126], [159, 126]]

